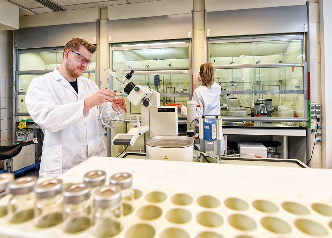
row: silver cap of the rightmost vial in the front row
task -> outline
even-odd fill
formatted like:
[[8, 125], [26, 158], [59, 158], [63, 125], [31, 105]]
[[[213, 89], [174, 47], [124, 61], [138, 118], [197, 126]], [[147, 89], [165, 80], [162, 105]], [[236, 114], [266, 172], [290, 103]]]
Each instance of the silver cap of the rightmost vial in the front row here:
[[111, 184], [95, 191], [94, 206], [99, 208], [112, 208], [121, 204], [121, 187]]

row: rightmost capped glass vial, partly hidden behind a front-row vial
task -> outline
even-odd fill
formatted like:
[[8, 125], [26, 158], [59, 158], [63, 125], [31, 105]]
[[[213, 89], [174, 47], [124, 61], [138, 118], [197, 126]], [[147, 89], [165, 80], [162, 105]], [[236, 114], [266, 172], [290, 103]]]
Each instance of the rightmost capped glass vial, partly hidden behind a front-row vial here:
[[132, 189], [132, 176], [129, 173], [117, 173], [111, 176], [110, 184], [118, 184], [122, 188], [121, 197], [124, 216], [134, 210], [134, 190]]

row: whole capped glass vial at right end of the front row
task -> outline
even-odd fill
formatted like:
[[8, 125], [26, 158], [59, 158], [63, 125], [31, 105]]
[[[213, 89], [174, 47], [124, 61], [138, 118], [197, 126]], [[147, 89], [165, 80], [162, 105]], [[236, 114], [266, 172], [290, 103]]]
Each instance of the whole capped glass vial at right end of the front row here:
[[123, 228], [123, 210], [121, 205], [121, 187], [108, 185], [100, 187], [94, 195], [94, 227], [97, 237], [112, 237]]

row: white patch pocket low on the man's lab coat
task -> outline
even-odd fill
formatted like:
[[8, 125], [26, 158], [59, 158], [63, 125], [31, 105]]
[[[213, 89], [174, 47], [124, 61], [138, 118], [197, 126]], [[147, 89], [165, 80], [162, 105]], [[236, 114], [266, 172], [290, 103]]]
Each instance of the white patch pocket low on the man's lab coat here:
[[40, 170], [46, 173], [62, 173], [62, 144], [43, 149]]

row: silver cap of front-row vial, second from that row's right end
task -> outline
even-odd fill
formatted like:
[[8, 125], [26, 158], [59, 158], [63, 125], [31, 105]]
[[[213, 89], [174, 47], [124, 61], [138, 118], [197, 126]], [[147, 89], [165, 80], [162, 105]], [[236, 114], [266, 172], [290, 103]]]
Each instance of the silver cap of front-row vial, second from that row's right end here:
[[90, 187], [86, 183], [74, 183], [62, 191], [65, 203], [79, 203], [90, 197]]

